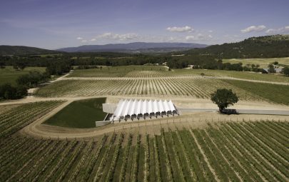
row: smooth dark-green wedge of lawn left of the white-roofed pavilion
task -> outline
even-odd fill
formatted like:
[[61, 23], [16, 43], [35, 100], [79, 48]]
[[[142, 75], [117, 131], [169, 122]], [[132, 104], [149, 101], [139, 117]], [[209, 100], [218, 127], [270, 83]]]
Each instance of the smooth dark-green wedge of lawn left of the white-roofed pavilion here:
[[44, 124], [67, 128], [94, 128], [95, 121], [103, 121], [106, 113], [102, 111], [102, 103], [106, 98], [92, 98], [73, 101]]

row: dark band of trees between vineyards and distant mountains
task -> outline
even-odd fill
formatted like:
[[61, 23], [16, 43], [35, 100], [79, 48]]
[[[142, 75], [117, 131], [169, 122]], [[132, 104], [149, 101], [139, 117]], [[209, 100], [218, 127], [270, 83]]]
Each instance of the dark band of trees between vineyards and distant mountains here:
[[90, 66], [161, 65], [163, 63], [166, 63], [170, 69], [183, 69], [193, 65], [193, 69], [262, 71], [259, 65], [223, 63], [218, 56], [210, 54], [173, 56], [171, 54], [67, 53], [48, 56], [0, 57], [0, 67], [13, 65], [15, 69], [24, 69], [26, 66], [42, 66], [46, 67], [46, 71], [51, 75], [61, 75], [69, 72], [72, 66], [78, 66], [79, 69], [88, 69]]

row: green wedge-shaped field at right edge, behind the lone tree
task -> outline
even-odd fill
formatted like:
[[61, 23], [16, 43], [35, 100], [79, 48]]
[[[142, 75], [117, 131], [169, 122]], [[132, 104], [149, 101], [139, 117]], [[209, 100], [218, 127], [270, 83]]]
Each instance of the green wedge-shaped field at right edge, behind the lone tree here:
[[225, 79], [223, 81], [269, 101], [289, 105], [289, 86]]

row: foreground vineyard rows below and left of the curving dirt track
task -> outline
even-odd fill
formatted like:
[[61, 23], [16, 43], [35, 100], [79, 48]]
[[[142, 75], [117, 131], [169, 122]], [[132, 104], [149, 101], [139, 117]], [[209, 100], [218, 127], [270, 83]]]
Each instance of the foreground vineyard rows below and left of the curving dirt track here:
[[[36, 105], [38, 104], [38, 105]], [[19, 106], [26, 123], [56, 101]], [[11, 108], [10, 111], [18, 111]], [[6, 114], [6, 123], [22, 113]], [[2, 124], [1, 120], [1, 124]], [[137, 130], [101, 139], [1, 137], [1, 181], [288, 181], [287, 121], [162, 124], [160, 134]]]

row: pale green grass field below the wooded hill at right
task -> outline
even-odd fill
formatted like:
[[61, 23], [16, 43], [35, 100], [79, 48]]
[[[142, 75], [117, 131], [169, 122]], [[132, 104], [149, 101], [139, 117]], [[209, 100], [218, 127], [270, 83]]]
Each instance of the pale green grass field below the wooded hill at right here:
[[243, 63], [243, 66], [246, 64], [259, 64], [260, 68], [267, 69], [268, 64], [272, 64], [277, 61], [279, 64], [289, 66], [289, 58], [269, 58], [269, 59], [223, 59], [223, 63], [238, 64]]

